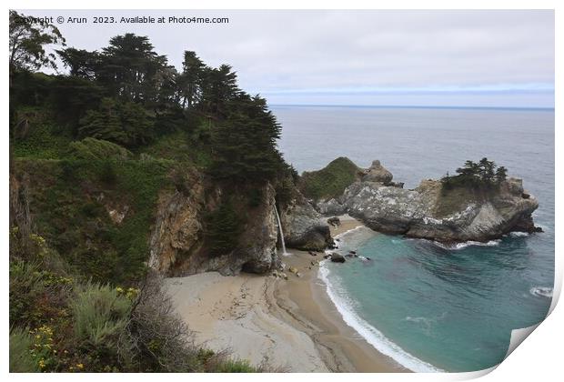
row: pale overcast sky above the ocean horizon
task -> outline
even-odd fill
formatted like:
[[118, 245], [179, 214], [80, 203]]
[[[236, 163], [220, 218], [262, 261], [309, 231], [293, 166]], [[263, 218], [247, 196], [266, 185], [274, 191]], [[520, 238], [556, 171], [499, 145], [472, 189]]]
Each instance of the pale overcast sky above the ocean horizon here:
[[[184, 50], [229, 64], [270, 105], [554, 106], [552, 11], [22, 11], [86, 16], [59, 25], [89, 50], [147, 35], [179, 67]], [[95, 15], [229, 17], [228, 24], [92, 23]]]

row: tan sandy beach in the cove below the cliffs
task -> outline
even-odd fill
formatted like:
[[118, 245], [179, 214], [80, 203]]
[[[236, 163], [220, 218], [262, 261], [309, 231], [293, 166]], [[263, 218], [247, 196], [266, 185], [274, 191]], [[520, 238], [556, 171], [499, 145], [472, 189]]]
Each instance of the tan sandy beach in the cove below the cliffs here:
[[[339, 216], [337, 236], [360, 226]], [[166, 279], [176, 311], [206, 347], [289, 372], [405, 372], [348, 327], [317, 277], [323, 254], [290, 250], [287, 279], [209, 272]], [[299, 276], [290, 272], [296, 268]]]

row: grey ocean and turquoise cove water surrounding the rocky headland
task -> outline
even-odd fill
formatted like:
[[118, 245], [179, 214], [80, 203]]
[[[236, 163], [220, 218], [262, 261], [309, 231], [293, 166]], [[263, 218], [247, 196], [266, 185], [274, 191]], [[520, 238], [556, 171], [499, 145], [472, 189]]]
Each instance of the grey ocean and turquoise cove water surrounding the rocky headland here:
[[454, 247], [359, 228], [319, 276], [347, 324], [414, 371], [475, 371], [503, 360], [511, 330], [546, 317], [554, 284], [554, 110], [273, 106], [280, 151], [299, 173], [347, 156], [379, 159], [406, 187], [486, 156], [523, 178], [543, 233]]

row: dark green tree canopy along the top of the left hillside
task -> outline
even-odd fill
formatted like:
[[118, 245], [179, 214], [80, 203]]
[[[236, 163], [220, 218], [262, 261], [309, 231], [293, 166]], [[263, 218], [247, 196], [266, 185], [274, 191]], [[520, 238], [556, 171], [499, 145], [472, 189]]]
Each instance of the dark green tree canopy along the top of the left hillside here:
[[[10, 14], [11, 65], [28, 74], [55, 65], [45, 45], [63, 43], [63, 36], [53, 25], [19, 24], [16, 16]], [[14, 98], [48, 103], [75, 138], [132, 148], [184, 130], [207, 150], [208, 174], [218, 179], [263, 182], [287, 167], [277, 151], [276, 117], [264, 98], [238, 87], [230, 65], [211, 67], [185, 50], [178, 71], [147, 36], [131, 33], [112, 37], [99, 51], [63, 46], [55, 52], [68, 75], [50, 76], [49, 85], [34, 77], [33, 89], [21, 86], [24, 94], [16, 86]]]

